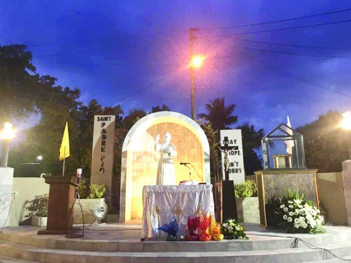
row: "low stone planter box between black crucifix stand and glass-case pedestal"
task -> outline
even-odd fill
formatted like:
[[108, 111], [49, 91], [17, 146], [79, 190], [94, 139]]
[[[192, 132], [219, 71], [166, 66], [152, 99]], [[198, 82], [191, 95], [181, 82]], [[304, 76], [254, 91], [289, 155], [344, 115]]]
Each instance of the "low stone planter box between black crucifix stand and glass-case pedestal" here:
[[260, 208], [257, 197], [237, 198], [239, 222], [260, 223]]

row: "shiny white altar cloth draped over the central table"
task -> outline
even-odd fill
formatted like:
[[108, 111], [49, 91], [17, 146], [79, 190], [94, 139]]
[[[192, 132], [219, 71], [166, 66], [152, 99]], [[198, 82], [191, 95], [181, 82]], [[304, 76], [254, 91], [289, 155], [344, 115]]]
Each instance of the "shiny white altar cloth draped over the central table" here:
[[211, 184], [145, 185], [141, 238], [166, 236], [157, 228], [169, 224], [174, 216], [179, 223], [178, 236], [185, 236], [188, 217], [202, 214], [214, 217]]

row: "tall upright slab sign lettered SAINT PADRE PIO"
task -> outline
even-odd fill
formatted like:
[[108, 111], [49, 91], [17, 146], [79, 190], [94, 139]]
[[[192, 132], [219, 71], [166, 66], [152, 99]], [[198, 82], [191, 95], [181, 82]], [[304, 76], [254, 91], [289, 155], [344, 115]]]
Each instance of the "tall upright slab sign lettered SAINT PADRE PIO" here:
[[90, 183], [106, 185], [106, 202], [110, 204], [112, 190], [114, 115], [95, 115]]

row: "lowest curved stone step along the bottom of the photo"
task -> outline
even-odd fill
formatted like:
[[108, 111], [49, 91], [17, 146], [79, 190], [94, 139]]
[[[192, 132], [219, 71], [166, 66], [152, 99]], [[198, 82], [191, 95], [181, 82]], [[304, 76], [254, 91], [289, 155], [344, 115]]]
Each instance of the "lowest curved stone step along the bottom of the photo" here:
[[[323, 246], [339, 256], [349, 255], [351, 241]], [[123, 262], [123, 263], [256, 263], [256, 262], [306, 262], [331, 259], [322, 249], [306, 247], [288, 249], [268, 249], [253, 251], [203, 251], [203, 252], [97, 252], [66, 249], [48, 249], [20, 245], [9, 241], [0, 242], [0, 254], [23, 260], [40, 262]]]

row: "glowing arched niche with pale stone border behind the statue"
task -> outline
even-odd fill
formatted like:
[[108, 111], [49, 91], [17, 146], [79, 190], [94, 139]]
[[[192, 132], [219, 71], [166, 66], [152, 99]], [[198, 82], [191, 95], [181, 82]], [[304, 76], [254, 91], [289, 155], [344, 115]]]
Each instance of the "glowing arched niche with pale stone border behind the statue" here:
[[[177, 183], [189, 179], [189, 171], [179, 162], [190, 162], [202, 180], [210, 183], [210, 147], [200, 125], [178, 112], [161, 111], [146, 115], [129, 130], [122, 146], [120, 222], [140, 219], [142, 187], [156, 184], [158, 156], [153, 150], [157, 134], [169, 131], [178, 156], [174, 159]], [[162, 139], [161, 139], [162, 140]], [[192, 179], [200, 180], [192, 170]]]

